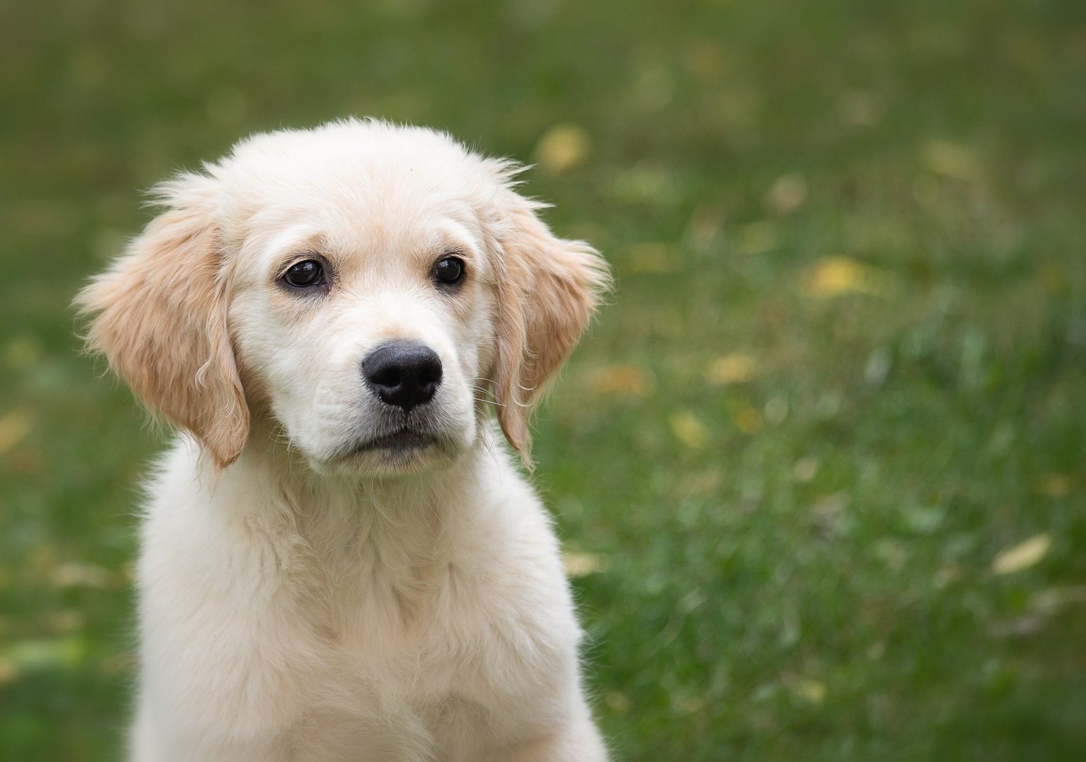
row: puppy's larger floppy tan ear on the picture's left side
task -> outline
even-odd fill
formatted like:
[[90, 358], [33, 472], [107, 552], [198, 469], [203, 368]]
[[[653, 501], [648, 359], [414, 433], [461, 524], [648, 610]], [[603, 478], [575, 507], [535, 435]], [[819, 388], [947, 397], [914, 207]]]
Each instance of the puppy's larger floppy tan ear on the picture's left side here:
[[152, 412], [192, 432], [218, 468], [249, 435], [249, 408], [226, 328], [214, 180], [161, 187], [166, 211], [76, 297], [87, 346]]

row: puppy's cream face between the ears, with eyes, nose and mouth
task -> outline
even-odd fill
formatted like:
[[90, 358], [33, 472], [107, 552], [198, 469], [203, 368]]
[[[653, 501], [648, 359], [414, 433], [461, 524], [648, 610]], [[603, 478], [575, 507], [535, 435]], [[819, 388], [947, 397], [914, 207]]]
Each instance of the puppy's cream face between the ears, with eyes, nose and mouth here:
[[292, 162], [258, 183], [291, 190], [255, 200], [268, 221], [241, 241], [228, 323], [247, 393], [315, 468], [442, 463], [476, 439], [497, 263], [441, 158]]

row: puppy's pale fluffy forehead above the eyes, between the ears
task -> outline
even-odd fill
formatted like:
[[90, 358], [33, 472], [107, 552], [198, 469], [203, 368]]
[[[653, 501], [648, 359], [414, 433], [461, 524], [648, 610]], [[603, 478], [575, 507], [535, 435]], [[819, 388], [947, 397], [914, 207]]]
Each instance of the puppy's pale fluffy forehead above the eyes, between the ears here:
[[304, 221], [370, 242], [476, 233], [497, 189], [485, 162], [444, 136], [359, 124], [258, 136], [219, 170], [244, 200], [248, 233]]

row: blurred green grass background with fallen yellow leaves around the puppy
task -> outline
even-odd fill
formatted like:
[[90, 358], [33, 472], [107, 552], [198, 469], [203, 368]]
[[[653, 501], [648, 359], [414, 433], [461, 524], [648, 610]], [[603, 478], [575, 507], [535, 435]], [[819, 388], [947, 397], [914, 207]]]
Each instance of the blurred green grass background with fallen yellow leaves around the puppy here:
[[1082, 759], [1086, 4], [0, 5], [0, 755], [121, 753], [163, 432], [70, 302], [141, 189], [376, 115], [618, 290], [542, 410], [617, 759]]

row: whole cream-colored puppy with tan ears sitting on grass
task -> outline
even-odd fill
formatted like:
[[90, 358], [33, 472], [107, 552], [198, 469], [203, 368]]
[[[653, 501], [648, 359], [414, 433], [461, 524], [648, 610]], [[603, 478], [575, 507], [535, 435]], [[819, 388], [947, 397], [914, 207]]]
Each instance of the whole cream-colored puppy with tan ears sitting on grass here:
[[607, 283], [444, 135], [258, 135], [80, 294], [186, 434], [151, 481], [131, 757], [606, 757], [520, 455]]

